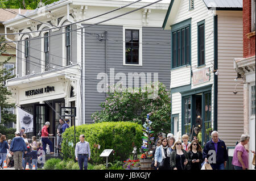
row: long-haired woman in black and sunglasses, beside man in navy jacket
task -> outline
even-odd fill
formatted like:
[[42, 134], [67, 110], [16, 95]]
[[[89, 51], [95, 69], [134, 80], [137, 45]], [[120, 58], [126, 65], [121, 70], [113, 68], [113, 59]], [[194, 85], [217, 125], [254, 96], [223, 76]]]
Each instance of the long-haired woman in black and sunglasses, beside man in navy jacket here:
[[193, 140], [188, 148], [188, 163], [190, 170], [201, 170], [203, 153], [198, 141]]

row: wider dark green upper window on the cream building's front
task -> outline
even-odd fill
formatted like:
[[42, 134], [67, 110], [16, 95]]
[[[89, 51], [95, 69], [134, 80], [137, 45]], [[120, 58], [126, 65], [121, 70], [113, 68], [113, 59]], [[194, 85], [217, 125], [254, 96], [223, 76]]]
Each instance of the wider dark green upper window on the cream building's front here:
[[[191, 19], [189, 19], [191, 21]], [[186, 22], [189, 22], [188, 20]], [[178, 23], [179, 24], [179, 23]], [[185, 25], [184, 25], [185, 24]], [[172, 68], [190, 64], [190, 24], [174, 25], [172, 31]]]

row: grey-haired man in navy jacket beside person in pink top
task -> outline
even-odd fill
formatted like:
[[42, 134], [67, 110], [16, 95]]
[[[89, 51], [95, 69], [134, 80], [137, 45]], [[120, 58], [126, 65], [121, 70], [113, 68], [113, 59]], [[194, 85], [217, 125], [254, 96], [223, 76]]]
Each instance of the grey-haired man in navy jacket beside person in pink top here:
[[[214, 158], [214, 154], [216, 153], [216, 157]], [[212, 155], [212, 156], [211, 156]], [[210, 157], [211, 156], [211, 157]], [[210, 159], [209, 163], [212, 166], [213, 170], [224, 170], [226, 167], [226, 162], [228, 161], [228, 150], [226, 149], [225, 142], [218, 138], [218, 132], [212, 132], [212, 140], [208, 141], [204, 146], [203, 158], [205, 162], [208, 162], [208, 158]], [[212, 162], [213, 161], [213, 162]], [[216, 163], [214, 163], [216, 161]]]

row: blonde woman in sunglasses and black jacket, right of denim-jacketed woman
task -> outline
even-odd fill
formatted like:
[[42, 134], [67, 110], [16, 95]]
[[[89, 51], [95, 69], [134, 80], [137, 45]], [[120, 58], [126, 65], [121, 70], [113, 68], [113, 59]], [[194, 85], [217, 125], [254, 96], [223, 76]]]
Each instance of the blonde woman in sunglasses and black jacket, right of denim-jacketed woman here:
[[188, 154], [183, 149], [180, 141], [176, 141], [172, 146], [172, 153], [170, 157], [170, 166], [174, 170], [188, 170]]

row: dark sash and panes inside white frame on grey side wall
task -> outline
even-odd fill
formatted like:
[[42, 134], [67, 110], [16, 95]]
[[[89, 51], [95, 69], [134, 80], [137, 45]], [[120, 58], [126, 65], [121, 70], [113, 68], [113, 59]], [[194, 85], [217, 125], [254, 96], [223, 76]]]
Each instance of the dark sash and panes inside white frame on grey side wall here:
[[125, 64], [139, 64], [139, 30], [125, 30]]

